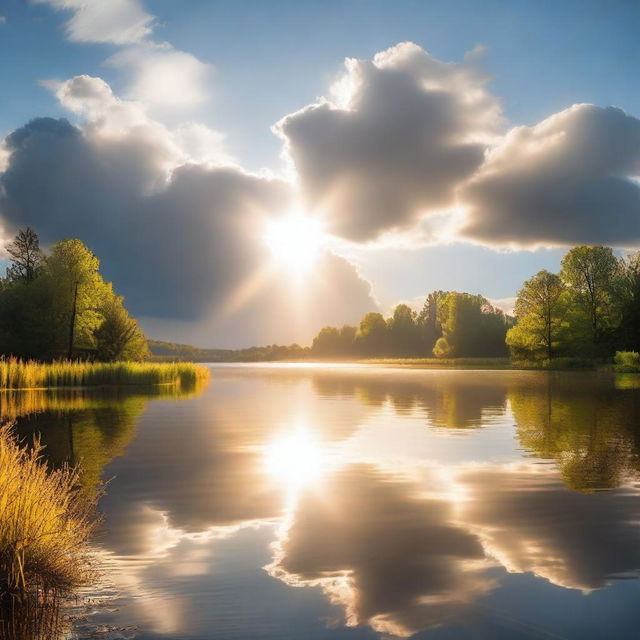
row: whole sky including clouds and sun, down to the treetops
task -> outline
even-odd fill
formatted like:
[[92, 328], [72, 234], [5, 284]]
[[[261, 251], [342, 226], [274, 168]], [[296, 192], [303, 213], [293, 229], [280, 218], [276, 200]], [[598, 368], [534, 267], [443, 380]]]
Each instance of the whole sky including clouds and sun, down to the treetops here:
[[508, 309], [640, 244], [640, 3], [0, 0], [0, 225], [80, 237], [151, 337]]

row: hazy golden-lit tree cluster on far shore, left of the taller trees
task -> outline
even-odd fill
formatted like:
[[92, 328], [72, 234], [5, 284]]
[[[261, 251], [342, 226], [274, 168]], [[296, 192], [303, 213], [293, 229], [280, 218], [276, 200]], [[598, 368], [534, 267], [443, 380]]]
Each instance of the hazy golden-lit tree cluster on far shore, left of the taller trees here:
[[320, 357], [504, 357], [513, 323], [483, 296], [434, 291], [420, 312], [399, 304], [389, 318], [371, 312], [357, 327], [324, 327], [311, 352]]

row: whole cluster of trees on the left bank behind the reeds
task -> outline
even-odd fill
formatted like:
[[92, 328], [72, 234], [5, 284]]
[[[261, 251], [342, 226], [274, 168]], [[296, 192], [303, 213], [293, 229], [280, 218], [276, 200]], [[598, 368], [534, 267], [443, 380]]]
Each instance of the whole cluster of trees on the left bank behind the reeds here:
[[49, 254], [27, 227], [5, 247], [0, 278], [0, 353], [23, 359], [141, 360], [146, 338], [100, 261], [78, 239]]

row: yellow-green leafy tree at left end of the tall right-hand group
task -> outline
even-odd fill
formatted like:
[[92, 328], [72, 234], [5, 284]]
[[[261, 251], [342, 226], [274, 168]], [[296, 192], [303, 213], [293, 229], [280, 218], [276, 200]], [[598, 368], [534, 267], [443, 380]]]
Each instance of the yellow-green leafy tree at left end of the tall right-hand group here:
[[516, 301], [518, 324], [506, 338], [512, 351], [531, 355], [542, 350], [547, 358], [553, 356], [566, 315], [565, 291], [560, 277], [546, 270], [524, 283]]

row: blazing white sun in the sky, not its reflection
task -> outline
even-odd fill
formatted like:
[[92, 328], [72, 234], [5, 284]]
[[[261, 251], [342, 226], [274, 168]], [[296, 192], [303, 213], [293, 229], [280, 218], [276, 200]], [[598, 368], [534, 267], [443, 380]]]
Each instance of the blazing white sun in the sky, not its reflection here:
[[264, 240], [279, 263], [300, 273], [317, 261], [325, 236], [318, 220], [293, 213], [270, 222]]

